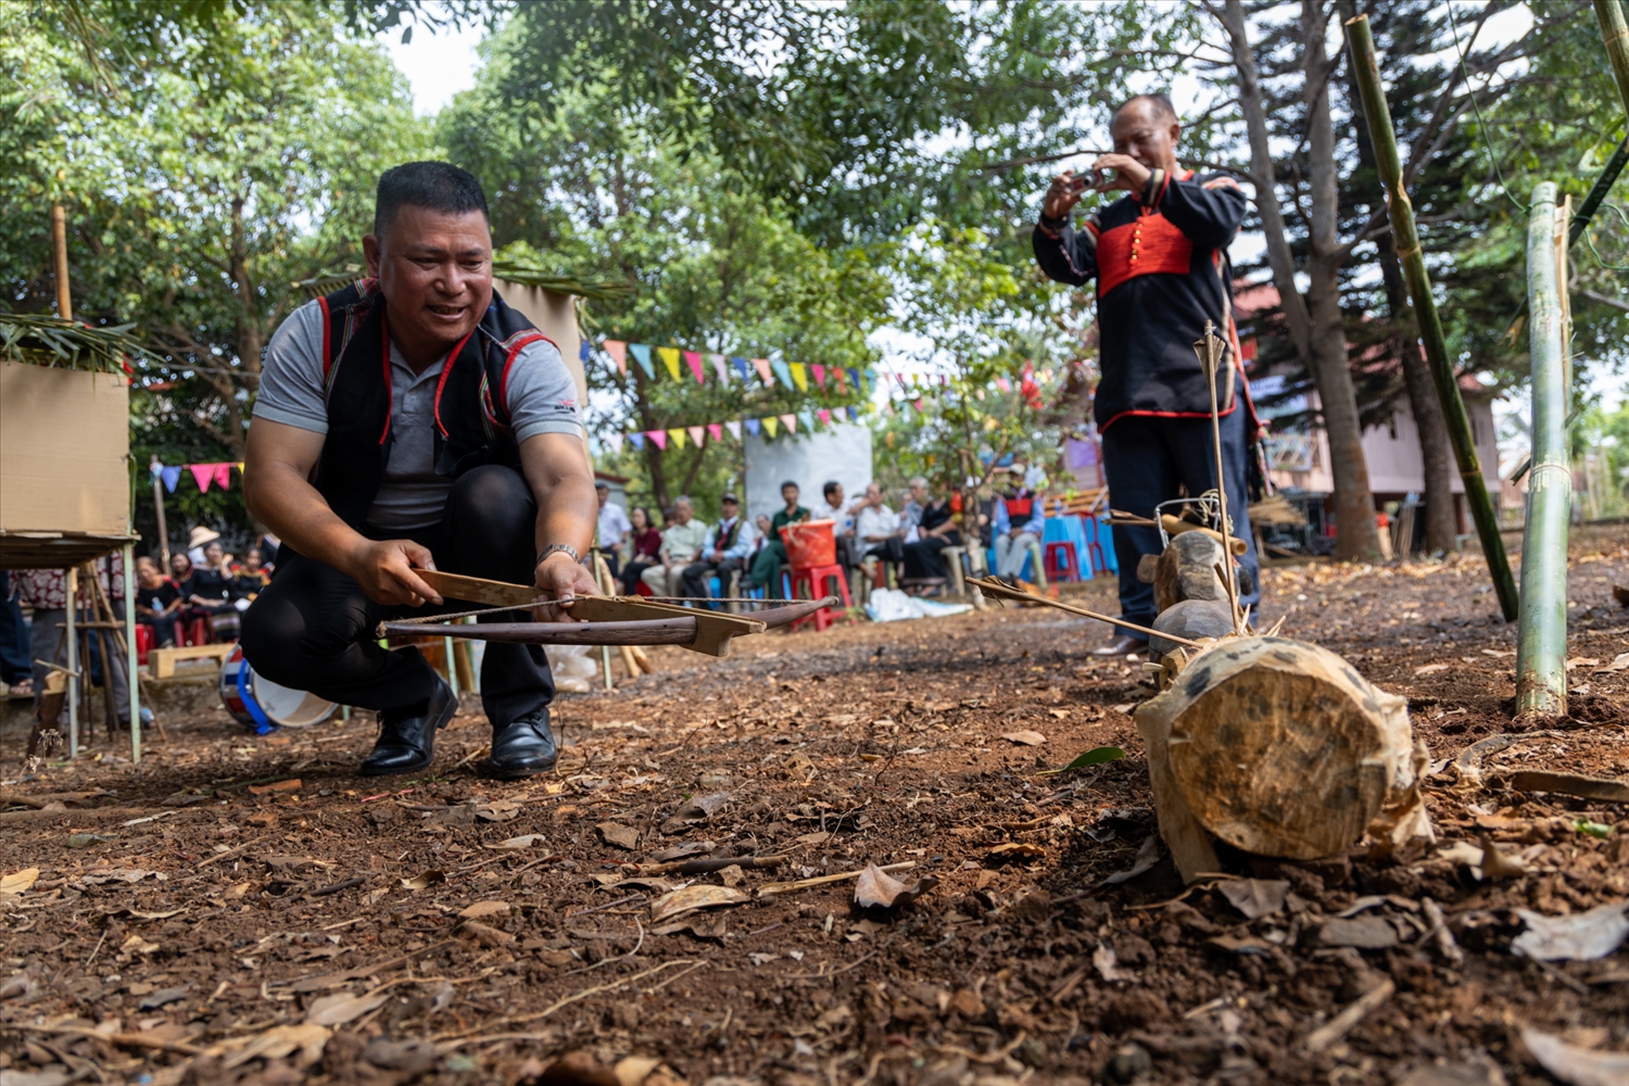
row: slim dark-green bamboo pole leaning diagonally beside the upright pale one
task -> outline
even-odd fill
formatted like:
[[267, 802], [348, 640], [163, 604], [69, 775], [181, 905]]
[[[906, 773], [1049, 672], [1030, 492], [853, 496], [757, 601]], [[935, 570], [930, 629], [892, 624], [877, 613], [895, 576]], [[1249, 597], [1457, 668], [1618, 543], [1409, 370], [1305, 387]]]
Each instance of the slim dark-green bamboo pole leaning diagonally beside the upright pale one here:
[[1520, 611], [1517, 583], [1510, 575], [1510, 558], [1505, 557], [1505, 541], [1499, 536], [1499, 516], [1494, 511], [1492, 498], [1487, 497], [1487, 487], [1482, 484], [1482, 464], [1471, 435], [1471, 417], [1464, 412], [1460, 381], [1448, 360], [1448, 340], [1442, 334], [1437, 298], [1430, 290], [1425, 254], [1420, 252], [1419, 230], [1414, 226], [1414, 205], [1403, 189], [1403, 160], [1398, 156], [1398, 135], [1391, 127], [1386, 93], [1380, 85], [1380, 67], [1375, 63], [1375, 39], [1368, 33], [1368, 16], [1359, 15], [1347, 21], [1346, 28], [1347, 42], [1352, 47], [1352, 73], [1363, 98], [1368, 135], [1375, 143], [1380, 184], [1386, 189], [1391, 238], [1396, 244], [1398, 261], [1403, 264], [1403, 277], [1409, 285], [1409, 298], [1414, 301], [1414, 317], [1419, 321], [1425, 361], [1430, 363], [1437, 399], [1442, 401], [1442, 414], [1448, 423], [1453, 458], [1460, 462], [1464, 503], [1471, 508], [1476, 534], [1482, 541], [1482, 555], [1487, 558], [1487, 571], [1494, 580], [1494, 591], [1499, 594], [1499, 609], [1504, 612], [1505, 622], [1512, 622]]

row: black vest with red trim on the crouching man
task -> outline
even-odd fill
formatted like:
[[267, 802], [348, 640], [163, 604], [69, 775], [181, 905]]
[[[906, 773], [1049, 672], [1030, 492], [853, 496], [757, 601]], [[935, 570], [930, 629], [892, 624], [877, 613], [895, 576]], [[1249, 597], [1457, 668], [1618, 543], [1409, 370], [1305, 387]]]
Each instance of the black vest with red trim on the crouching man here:
[[[327, 438], [313, 485], [336, 516], [360, 528], [391, 454], [391, 358], [384, 298], [365, 278], [319, 300]], [[520, 466], [510, 428], [508, 371], [528, 344], [549, 340], [503, 300], [448, 353], [435, 386], [435, 471], [456, 479], [482, 464]]]

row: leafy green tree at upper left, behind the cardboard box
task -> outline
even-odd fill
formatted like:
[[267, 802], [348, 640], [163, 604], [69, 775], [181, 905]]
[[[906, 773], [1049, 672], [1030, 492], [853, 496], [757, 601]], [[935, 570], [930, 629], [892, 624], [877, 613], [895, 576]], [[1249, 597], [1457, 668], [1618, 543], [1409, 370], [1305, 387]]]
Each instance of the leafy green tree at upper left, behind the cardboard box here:
[[[428, 153], [399, 73], [337, 31], [316, 5], [0, 8], [7, 303], [54, 304], [65, 204], [75, 316], [134, 321], [161, 363], [137, 374], [138, 464], [243, 459], [292, 283], [358, 259], [378, 173]], [[248, 524], [236, 485], [178, 495], [178, 529]]]

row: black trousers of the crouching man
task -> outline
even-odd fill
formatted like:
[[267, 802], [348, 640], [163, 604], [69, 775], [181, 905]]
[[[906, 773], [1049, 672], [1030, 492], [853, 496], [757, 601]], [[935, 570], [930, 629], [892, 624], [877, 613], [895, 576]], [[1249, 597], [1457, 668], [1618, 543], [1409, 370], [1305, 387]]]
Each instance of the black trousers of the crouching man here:
[[[512, 467], [487, 464], [453, 484], [441, 523], [409, 532], [448, 573], [531, 585], [538, 503]], [[399, 532], [368, 531], [375, 539]], [[479, 604], [446, 601], [445, 607], [388, 607], [368, 599], [355, 580], [314, 558], [282, 547], [277, 573], [243, 612], [243, 655], [257, 674], [340, 705], [402, 708], [435, 690], [437, 676], [417, 648], [380, 646], [375, 627], [386, 619], [437, 611], [472, 611]], [[528, 612], [498, 614], [484, 622], [529, 622]], [[489, 643], [481, 664], [481, 703], [494, 731], [546, 713], [554, 676], [538, 645]]]

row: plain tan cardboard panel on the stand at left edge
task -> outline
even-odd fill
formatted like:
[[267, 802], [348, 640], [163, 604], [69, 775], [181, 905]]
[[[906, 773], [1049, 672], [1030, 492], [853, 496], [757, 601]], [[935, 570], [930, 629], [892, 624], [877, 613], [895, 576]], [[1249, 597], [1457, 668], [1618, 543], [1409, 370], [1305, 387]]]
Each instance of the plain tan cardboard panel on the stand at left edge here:
[[127, 536], [122, 374], [0, 363], [0, 532]]

